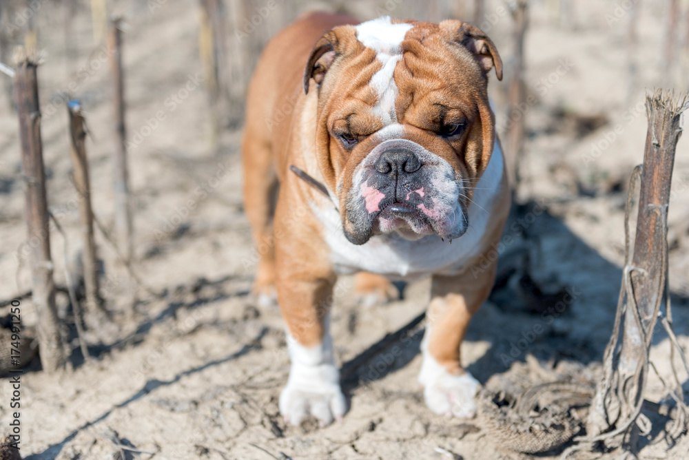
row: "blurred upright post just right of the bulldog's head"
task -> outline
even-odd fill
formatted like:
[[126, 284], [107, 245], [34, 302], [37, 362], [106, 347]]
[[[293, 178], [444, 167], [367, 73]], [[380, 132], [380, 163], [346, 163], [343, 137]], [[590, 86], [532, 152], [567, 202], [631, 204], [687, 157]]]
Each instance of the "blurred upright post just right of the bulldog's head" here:
[[512, 16], [514, 19], [514, 54], [511, 63], [509, 83], [509, 109], [507, 116], [506, 161], [513, 190], [520, 181], [520, 157], [524, 150], [524, 131], [526, 129], [526, 85], [524, 84], [524, 35], [528, 27], [528, 0], [517, 0]]

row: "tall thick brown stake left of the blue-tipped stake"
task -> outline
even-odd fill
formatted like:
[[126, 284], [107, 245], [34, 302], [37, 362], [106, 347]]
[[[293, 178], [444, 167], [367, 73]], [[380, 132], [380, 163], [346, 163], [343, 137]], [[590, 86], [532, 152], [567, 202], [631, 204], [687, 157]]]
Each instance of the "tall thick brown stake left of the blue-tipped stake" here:
[[26, 200], [25, 218], [32, 297], [38, 316], [41, 364], [54, 372], [65, 364], [65, 350], [55, 306], [55, 285], [50, 258], [48, 201], [45, 197], [45, 171], [41, 144], [41, 112], [37, 81], [37, 59], [18, 51], [14, 91], [19, 111], [21, 139], [21, 171]]

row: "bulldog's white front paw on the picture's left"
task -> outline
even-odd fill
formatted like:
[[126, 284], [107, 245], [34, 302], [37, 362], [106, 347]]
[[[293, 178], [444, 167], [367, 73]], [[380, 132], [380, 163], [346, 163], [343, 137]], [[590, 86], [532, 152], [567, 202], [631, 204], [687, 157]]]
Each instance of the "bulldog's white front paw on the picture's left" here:
[[[329, 365], [327, 365], [329, 366]], [[338, 375], [337, 369], [334, 373]], [[294, 372], [294, 368], [291, 372]], [[326, 373], [331, 373], [326, 371]], [[338, 381], [312, 380], [297, 384], [290, 379], [280, 393], [280, 414], [291, 425], [299, 425], [308, 416], [318, 419], [320, 426], [327, 426], [341, 419], [347, 412], [347, 401]]]

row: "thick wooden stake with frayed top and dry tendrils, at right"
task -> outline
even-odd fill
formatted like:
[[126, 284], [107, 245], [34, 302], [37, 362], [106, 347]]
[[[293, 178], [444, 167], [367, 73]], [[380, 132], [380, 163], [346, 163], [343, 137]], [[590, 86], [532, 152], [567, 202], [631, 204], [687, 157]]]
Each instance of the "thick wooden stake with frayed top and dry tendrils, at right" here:
[[[675, 97], [656, 91], [646, 97], [648, 133], [644, 165], [635, 169], [630, 185], [625, 222], [626, 266], [615, 328], [604, 355], [604, 375], [588, 416], [587, 441], [617, 437], [616, 442], [606, 441], [606, 444], [619, 447], [624, 441], [632, 450], [637, 447], [639, 428], [635, 421], [648, 380], [653, 329], [663, 297], [669, 295], [666, 286], [670, 185], [681, 135], [681, 114], [687, 107], [686, 95]], [[641, 190], [634, 249], [630, 255], [628, 213], [637, 176]], [[666, 314], [669, 317], [669, 310]]]

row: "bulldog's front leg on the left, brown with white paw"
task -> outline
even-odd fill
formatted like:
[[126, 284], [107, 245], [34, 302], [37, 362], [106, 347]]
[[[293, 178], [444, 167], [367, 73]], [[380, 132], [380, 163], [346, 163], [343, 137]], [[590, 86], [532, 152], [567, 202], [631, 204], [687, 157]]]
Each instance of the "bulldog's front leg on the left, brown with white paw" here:
[[305, 238], [306, 233], [307, 229], [294, 233], [289, 244], [278, 240], [276, 247], [278, 304], [287, 324], [291, 359], [287, 386], [280, 394], [280, 413], [293, 425], [310, 414], [325, 426], [347, 410], [329, 333], [336, 278], [327, 249], [318, 247], [320, 238]]

